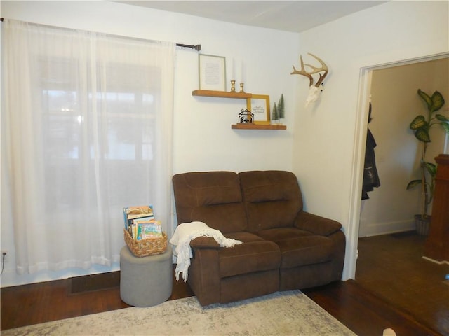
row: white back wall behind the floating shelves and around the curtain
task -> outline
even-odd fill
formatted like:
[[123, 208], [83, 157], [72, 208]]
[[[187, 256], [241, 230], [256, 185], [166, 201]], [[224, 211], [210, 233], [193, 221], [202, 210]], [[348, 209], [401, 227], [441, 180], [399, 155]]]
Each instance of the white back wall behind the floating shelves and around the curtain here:
[[[228, 24], [190, 15], [151, 10], [109, 1], [1, 1], [1, 16], [108, 34], [175, 43], [201, 44], [201, 53], [227, 57], [228, 79], [232, 61], [236, 80], [244, 65], [246, 92], [269, 94], [286, 102], [286, 131], [232, 130], [246, 108], [241, 99], [192, 97], [199, 88], [198, 52], [178, 49], [175, 78], [173, 173], [206, 170], [292, 168], [292, 129], [295, 118], [295, 78], [290, 76], [298, 34]], [[228, 82], [229, 83], [229, 82]], [[230, 85], [228, 86], [230, 90]], [[1, 223], [1, 250], [7, 250], [1, 286], [46, 281], [85, 274], [79, 269], [15, 276], [13, 230]], [[117, 269], [114, 265], [112, 269]], [[95, 267], [90, 273], [111, 269]]]

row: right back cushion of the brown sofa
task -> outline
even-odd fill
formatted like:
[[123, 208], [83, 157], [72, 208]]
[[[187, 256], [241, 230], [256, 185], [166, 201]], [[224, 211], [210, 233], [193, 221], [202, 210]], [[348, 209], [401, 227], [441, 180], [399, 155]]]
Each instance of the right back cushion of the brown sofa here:
[[293, 226], [302, 211], [302, 195], [295, 174], [252, 171], [241, 172], [239, 177], [250, 232]]

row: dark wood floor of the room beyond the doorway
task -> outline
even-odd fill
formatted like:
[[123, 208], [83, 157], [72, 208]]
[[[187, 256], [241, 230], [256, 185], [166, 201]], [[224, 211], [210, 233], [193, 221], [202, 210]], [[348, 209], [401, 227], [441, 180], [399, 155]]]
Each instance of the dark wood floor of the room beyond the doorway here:
[[402, 232], [358, 239], [356, 282], [449, 335], [449, 265], [422, 258], [426, 238]]

